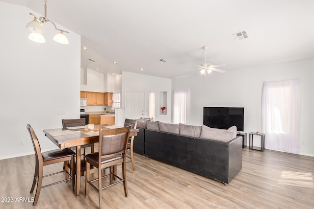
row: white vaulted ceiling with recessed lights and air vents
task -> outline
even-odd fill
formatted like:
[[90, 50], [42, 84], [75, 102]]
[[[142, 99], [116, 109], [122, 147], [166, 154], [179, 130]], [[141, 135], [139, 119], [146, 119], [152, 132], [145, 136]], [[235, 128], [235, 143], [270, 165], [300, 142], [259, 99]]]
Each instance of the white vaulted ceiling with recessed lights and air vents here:
[[[44, 15], [44, 0], [2, 1]], [[314, 0], [48, 0], [47, 4], [49, 19], [81, 35], [81, 46], [87, 47], [81, 51], [81, 67], [103, 73], [131, 71], [166, 78], [198, 74], [185, 70], [204, 63], [202, 46], [209, 46], [207, 62], [225, 63], [220, 69], [227, 73], [314, 57]], [[246, 31], [248, 38], [235, 40], [232, 34], [240, 31]]]

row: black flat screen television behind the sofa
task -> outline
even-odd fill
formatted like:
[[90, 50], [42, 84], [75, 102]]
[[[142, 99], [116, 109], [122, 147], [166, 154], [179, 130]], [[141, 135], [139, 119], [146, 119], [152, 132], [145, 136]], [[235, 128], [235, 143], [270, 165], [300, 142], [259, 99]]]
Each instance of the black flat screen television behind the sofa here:
[[244, 131], [244, 107], [204, 107], [203, 124], [221, 129], [235, 125], [237, 131]]

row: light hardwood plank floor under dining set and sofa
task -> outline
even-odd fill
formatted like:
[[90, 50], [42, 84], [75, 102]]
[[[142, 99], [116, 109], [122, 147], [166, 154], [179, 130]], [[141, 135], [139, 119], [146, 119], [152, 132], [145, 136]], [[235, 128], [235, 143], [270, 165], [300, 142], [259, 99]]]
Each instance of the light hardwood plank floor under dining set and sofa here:
[[[34, 155], [0, 161], [0, 196], [33, 197], [29, 194]], [[265, 150], [243, 149], [242, 170], [228, 186], [171, 165], [134, 154], [136, 170], [127, 164], [129, 197], [123, 185], [103, 190], [107, 209], [310, 209], [314, 208], [314, 158]], [[44, 174], [62, 169], [62, 163], [44, 167]], [[118, 173], [121, 173], [121, 165]], [[61, 175], [60, 178], [63, 176]], [[48, 179], [49, 180], [49, 179]], [[44, 180], [43, 184], [49, 183]], [[105, 180], [106, 181], [106, 180]], [[0, 202], [1, 209], [98, 208], [98, 193], [85, 196], [85, 177], [80, 194], [71, 183], [43, 188], [36, 207], [31, 202]]]

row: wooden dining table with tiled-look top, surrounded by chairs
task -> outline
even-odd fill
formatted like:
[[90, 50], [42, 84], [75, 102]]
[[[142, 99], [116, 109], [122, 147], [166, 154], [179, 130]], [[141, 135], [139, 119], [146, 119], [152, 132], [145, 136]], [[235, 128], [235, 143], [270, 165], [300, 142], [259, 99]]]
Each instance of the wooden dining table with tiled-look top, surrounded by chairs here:
[[[80, 190], [80, 173], [81, 173], [81, 146], [85, 144], [96, 143], [99, 141], [99, 130], [121, 128], [122, 126], [102, 124], [95, 125], [90, 128], [88, 125], [45, 129], [43, 132], [55, 145], [60, 149], [76, 147], [76, 195], [79, 195]], [[131, 129], [129, 137], [137, 136], [138, 129]]]

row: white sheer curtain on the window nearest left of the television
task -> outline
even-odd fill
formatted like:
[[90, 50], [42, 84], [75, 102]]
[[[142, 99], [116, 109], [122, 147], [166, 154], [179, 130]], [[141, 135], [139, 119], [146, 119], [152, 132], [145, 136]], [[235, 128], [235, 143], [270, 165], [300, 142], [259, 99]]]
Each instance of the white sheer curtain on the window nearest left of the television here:
[[189, 90], [174, 91], [174, 95], [173, 95], [173, 122], [174, 123], [187, 124], [189, 105], [190, 105]]

